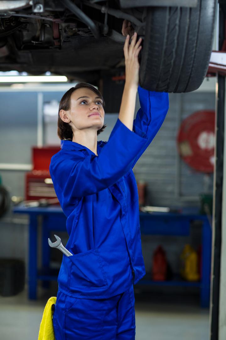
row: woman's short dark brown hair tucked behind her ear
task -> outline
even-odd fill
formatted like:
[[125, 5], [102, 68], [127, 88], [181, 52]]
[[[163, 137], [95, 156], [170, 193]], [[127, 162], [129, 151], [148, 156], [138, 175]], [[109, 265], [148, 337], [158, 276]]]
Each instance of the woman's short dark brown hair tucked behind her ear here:
[[[57, 134], [58, 137], [63, 140], [63, 139], [73, 139], [73, 131], [70, 127], [70, 125], [68, 123], [65, 123], [61, 118], [60, 118], [60, 110], [65, 110], [68, 111], [70, 110], [70, 98], [71, 95], [73, 94], [73, 92], [75, 90], [77, 90], [78, 88], [81, 87], [86, 87], [92, 91], [94, 91], [98, 97], [100, 97], [103, 101], [103, 107], [105, 106], [105, 102], [104, 99], [100, 93], [100, 91], [98, 91], [98, 89], [96, 89], [96, 87], [94, 87], [93, 85], [90, 85], [88, 83], [78, 83], [76, 84], [74, 87], [71, 87], [61, 98], [60, 100], [60, 105], [59, 105], [59, 110], [58, 110], [58, 123], [57, 123]], [[102, 131], [104, 131], [104, 129], [106, 128], [106, 124], [104, 124], [102, 126], [102, 128], [100, 130], [97, 131], [97, 135], [99, 135]]]

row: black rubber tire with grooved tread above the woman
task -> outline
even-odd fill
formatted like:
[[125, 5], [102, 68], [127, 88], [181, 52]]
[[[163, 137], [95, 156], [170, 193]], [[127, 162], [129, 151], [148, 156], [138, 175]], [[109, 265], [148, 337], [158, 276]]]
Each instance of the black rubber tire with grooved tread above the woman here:
[[141, 87], [190, 92], [202, 84], [209, 65], [217, 0], [197, 7], [148, 7], [140, 56]]

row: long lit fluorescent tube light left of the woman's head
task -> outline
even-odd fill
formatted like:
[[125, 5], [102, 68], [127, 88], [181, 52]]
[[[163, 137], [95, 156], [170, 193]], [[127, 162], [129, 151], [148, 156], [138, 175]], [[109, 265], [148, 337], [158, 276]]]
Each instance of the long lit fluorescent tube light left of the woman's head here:
[[7, 75], [0, 76], [0, 83], [56, 83], [67, 82], [65, 75]]

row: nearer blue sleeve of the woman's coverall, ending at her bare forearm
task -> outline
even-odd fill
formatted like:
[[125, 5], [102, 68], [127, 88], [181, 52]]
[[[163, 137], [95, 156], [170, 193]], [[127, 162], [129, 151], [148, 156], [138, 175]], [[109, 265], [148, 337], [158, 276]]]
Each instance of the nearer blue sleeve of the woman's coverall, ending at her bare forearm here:
[[131, 169], [133, 159], [146, 143], [145, 134], [129, 130], [118, 118], [98, 156], [59, 151], [49, 166], [59, 201], [68, 202], [115, 184]]

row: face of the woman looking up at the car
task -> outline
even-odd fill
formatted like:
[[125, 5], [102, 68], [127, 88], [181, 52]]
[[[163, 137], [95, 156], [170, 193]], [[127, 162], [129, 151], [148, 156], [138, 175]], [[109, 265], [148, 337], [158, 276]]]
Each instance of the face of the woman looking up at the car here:
[[68, 115], [73, 132], [93, 127], [96, 131], [104, 125], [103, 101], [98, 95], [82, 87], [71, 95], [71, 107]]

